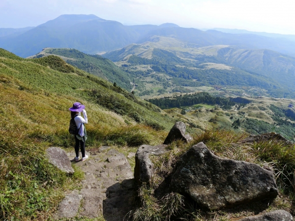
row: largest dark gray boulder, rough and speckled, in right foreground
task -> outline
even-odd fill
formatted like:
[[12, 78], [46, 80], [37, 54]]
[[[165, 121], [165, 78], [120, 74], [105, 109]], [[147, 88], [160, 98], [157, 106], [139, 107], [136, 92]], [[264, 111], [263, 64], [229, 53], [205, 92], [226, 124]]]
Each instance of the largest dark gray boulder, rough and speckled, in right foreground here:
[[256, 164], [221, 159], [203, 142], [180, 159], [172, 176], [174, 192], [188, 194], [207, 209], [233, 207], [278, 194], [271, 171]]

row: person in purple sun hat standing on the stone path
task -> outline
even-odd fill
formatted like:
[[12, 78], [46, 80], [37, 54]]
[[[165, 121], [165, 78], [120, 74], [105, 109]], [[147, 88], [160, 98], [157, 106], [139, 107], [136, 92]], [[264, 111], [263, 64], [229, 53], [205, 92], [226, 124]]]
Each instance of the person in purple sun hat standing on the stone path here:
[[[85, 161], [88, 158], [88, 155], [85, 155], [85, 142], [87, 140], [87, 133], [85, 129], [85, 125], [88, 123], [87, 113], [85, 110], [85, 106], [79, 102], [73, 104], [73, 107], [69, 108], [71, 111], [71, 118], [74, 118], [77, 128], [79, 129], [78, 135], [74, 135], [75, 137], [75, 152], [76, 157], [75, 161], [79, 161], [79, 146], [81, 148], [82, 159], [81, 161]], [[81, 111], [83, 112], [84, 118], [81, 116]]]

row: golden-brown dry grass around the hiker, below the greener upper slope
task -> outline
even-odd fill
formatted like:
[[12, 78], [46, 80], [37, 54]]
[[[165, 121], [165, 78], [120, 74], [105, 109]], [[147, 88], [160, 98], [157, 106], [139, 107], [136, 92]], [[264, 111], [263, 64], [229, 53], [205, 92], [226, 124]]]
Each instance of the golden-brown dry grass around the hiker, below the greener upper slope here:
[[49, 146], [73, 147], [67, 131], [72, 103], [87, 107], [88, 147], [155, 144], [167, 134], [127, 125], [120, 115], [86, 100], [20, 90], [15, 80], [5, 79], [0, 83], [0, 220], [47, 220], [64, 193], [79, 188], [79, 170], [67, 176], [45, 158]]

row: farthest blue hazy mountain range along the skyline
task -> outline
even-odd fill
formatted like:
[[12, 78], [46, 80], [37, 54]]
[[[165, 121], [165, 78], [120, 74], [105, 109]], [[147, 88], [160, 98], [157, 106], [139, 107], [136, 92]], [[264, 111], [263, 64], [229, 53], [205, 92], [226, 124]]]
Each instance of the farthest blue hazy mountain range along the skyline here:
[[0, 48], [22, 57], [35, 55], [46, 47], [75, 48], [84, 53], [96, 54], [132, 43], [143, 43], [154, 35], [173, 37], [196, 44], [196, 47], [232, 45], [240, 49], [268, 49], [295, 56], [295, 41], [287, 38], [202, 31], [169, 23], [161, 26], [124, 26], [95, 15], [61, 15], [35, 28], [19, 30], [15, 35], [3, 33], [3, 30], [0, 31]]

